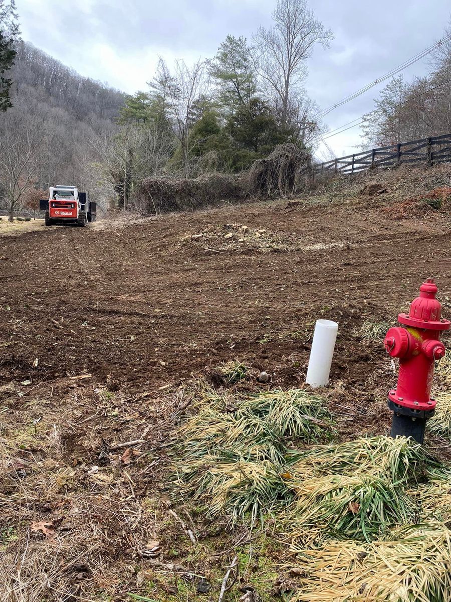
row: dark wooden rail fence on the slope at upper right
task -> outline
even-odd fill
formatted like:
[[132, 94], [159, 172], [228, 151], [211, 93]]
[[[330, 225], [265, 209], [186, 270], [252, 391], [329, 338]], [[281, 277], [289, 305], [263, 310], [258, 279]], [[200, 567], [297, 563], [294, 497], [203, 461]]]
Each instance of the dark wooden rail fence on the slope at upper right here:
[[371, 151], [347, 155], [314, 166], [314, 172], [352, 174], [371, 167], [389, 167], [419, 161], [425, 161], [428, 165], [451, 161], [451, 134], [381, 146]]

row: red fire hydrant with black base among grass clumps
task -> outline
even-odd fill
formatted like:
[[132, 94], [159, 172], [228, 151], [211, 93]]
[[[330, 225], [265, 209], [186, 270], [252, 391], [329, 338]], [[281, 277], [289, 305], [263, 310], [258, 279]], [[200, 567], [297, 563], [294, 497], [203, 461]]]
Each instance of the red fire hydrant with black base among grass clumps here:
[[406, 327], [390, 328], [384, 340], [387, 353], [399, 358], [397, 387], [388, 393], [388, 407], [393, 410], [391, 436], [405, 435], [419, 443], [425, 438], [426, 420], [435, 412], [436, 402], [431, 397], [434, 361], [445, 355], [440, 330], [451, 324], [441, 317], [436, 293], [434, 280], [423, 282], [409, 314], [398, 315]]

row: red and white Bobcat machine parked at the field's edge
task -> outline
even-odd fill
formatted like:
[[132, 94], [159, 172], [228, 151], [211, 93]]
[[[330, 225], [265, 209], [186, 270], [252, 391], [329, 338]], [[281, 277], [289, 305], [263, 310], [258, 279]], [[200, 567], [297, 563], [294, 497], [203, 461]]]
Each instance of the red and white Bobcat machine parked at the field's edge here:
[[79, 192], [75, 186], [51, 187], [49, 199], [41, 199], [39, 208], [46, 212], [46, 226], [85, 226], [97, 219], [96, 203], [89, 200], [89, 193]]

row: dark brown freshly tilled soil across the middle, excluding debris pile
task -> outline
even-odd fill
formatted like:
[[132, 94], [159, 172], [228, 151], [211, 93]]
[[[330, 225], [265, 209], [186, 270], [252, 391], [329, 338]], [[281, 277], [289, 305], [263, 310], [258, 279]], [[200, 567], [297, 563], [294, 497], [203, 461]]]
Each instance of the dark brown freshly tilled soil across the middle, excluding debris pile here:
[[[299, 249], [244, 243], [227, 252], [181, 241], [227, 223], [283, 233]], [[383, 355], [368, 365], [352, 327], [396, 315], [426, 277], [437, 278], [442, 299], [451, 288], [443, 217], [394, 221], [352, 204], [226, 207], [0, 240], [4, 382], [87, 371], [140, 389], [233, 358], [278, 382], [289, 356], [304, 367], [302, 335], [320, 317], [340, 323], [333, 376], [361, 379]], [[301, 382], [302, 370], [282, 381]]]

